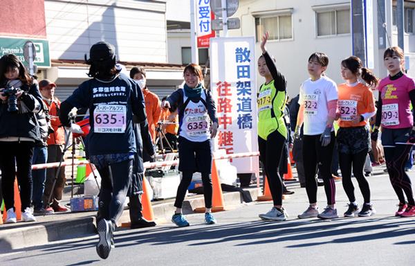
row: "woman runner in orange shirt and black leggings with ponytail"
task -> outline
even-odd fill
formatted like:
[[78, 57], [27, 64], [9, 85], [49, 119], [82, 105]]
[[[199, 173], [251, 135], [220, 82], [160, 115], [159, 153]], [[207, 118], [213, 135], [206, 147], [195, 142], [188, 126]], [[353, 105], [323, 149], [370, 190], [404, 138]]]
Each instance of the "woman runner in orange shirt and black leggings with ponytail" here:
[[[376, 113], [375, 99], [370, 87], [378, 85], [378, 78], [369, 69], [362, 67], [358, 57], [351, 56], [342, 61], [342, 78], [346, 83], [338, 86], [339, 130], [337, 134], [339, 163], [342, 171], [344, 191], [349, 198], [349, 209], [344, 217], [370, 216], [376, 213], [370, 202], [369, 182], [363, 174], [363, 167], [369, 152], [370, 134], [367, 126], [369, 118]], [[367, 85], [362, 84], [358, 79]], [[369, 86], [369, 87], [368, 87]], [[351, 169], [356, 177], [365, 200], [360, 210], [356, 204]]]

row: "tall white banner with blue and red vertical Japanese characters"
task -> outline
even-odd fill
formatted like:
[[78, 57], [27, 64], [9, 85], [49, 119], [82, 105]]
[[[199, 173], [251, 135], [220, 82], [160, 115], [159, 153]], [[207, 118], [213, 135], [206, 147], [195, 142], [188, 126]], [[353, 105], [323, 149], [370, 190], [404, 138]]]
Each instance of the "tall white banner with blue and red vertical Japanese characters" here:
[[[219, 130], [215, 150], [257, 152], [257, 73], [254, 37], [210, 39], [210, 88]], [[258, 172], [259, 158], [233, 159], [238, 173]]]

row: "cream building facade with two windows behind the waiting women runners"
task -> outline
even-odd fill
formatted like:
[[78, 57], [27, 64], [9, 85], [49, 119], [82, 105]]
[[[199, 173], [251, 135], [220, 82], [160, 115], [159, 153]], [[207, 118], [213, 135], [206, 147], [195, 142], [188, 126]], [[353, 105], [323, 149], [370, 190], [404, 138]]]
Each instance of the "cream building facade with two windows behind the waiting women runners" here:
[[[189, 0], [182, 1], [184, 6]], [[387, 71], [383, 66], [383, 51], [386, 46], [398, 45], [396, 28], [396, 1], [366, 1], [372, 17], [373, 71], [383, 78]], [[385, 3], [385, 13], [380, 12], [380, 2]], [[407, 69], [415, 77], [415, 1], [405, 1], [404, 41]], [[370, 11], [371, 10], [371, 11]], [[288, 94], [297, 95], [299, 86], [308, 78], [307, 61], [311, 53], [320, 51], [329, 56], [327, 76], [335, 82], [343, 82], [340, 76], [340, 62], [353, 54], [351, 34], [351, 1], [345, 0], [239, 0], [239, 8], [232, 16], [241, 21], [241, 28], [228, 30], [228, 36], [255, 36], [257, 57], [261, 53], [259, 42], [266, 30], [270, 33], [267, 47], [277, 60], [277, 67], [288, 80]], [[381, 27], [381, 28], [380, 28]], [[190, 32], [190, 31], [189, 31]], [[383, 33], [383, 34], [380, 34]], [[216, 36], [221, 35], [216, 34]], [[180, 43], [190, 46], [181, 34]], [[174, 33], [168, 35], [174, 38]], [[174, 45], [173, 45], [174, 44]], [[183, 47], [183, 46], [182, 46]], [[169, 51], [181, 51], [180, 44], [169, 42]], [[183, 57], [183, 55], [181, 55]], [[176, 60], [180, 55], [176, 55]], [[264, 80], [257, 79], [257, 87]]]

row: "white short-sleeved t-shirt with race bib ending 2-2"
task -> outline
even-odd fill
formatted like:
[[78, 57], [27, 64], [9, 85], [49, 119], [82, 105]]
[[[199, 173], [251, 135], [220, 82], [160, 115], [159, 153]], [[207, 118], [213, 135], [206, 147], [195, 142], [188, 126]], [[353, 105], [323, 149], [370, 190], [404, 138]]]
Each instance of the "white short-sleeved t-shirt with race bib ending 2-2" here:
[[304, 105], [304, 135], [318, 135], [324, 132], [329, 109], [327, 102], [338, 99], [337, 85], [322, 76], [304, 81], [299, 88], [299, 105]]

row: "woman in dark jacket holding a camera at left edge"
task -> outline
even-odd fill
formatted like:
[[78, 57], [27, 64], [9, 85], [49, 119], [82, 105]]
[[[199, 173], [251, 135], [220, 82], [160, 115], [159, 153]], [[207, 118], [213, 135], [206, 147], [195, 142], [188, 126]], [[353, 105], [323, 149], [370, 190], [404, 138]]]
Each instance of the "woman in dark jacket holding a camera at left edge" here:
[[16, 55], [0, 58], [0, 170], [1, 190], [6, 205], [6, 223], [17, 222], [14, 183], [20, 186], [24, 222], [35, 221], [30, 209], [32, 198], [32, 157], [40, 141], [35, 113], [41, 109], [42, 96], [36, 80], [29, 76]]

